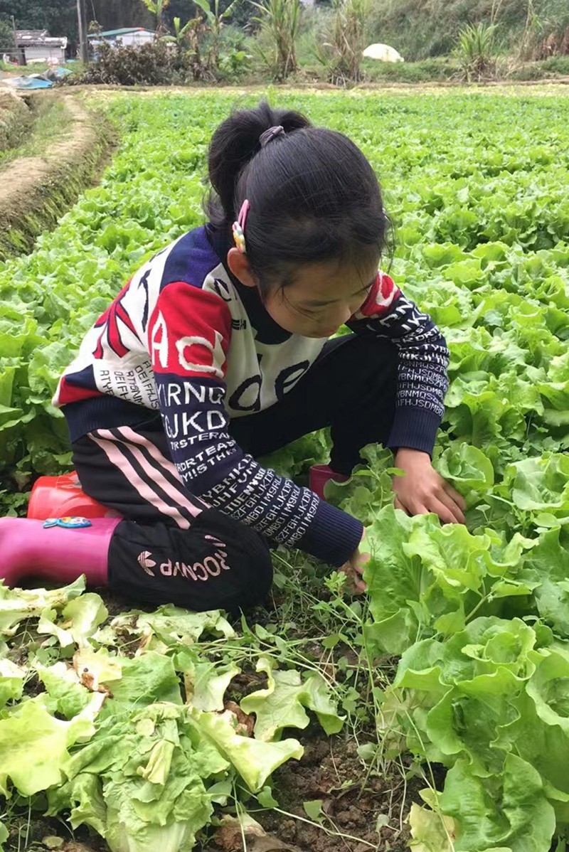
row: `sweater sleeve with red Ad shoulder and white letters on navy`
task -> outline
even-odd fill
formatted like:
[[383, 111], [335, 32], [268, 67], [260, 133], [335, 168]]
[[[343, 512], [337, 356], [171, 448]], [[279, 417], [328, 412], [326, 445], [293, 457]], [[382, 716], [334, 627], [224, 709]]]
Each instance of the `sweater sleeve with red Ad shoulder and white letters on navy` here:
[[229, 433], [227, 305], [183, 282], [164, 288], [148, 348], [172, 459], [187, 490], [267, 538], [340, 566], [357, 550], [362, 524], [308, 488], [244, 455]]

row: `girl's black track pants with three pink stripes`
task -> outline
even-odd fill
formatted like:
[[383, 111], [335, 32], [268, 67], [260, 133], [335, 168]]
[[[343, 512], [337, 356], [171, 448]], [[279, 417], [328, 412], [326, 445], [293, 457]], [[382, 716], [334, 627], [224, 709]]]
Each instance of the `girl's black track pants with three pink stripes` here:
[[[282, 402], [234, 419], [230, 431], [244, 452], [259, 457], [330, 426], [330, 465], [348, 474], [361, 447], [388, 440], [396, 382], [393, 344], [338, 338]], [[187, 491], [159, 414], [141, 415], [134, 426], [96, 429], [73, 444], [83, 490], [126, 519], [109, 551], [111, 588], [133, 602], [194, 610], [261, 602], [273, 579], [266, 542]]]

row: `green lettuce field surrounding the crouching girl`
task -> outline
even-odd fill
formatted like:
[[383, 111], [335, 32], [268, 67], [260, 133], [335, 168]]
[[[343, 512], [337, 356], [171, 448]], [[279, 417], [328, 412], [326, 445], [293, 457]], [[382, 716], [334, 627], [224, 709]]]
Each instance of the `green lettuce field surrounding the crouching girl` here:
[[[129, 273], [202, 221], [211, 132], [256, 102], [99, 97], [122, 140], [100, 186], [0, 264], [4, 512], [69, 463], [60, 370]], [[0, 584], [0, 849], [45, 849], [47, 813], [65, 821], [43, 833], [89, 826], [112, 852], [564, 852], [569, 98], [270, 98], [380, 176], [390, 273], [451, 348], [435, 465], [467, 527], [395, 511], [371, 446], [328, 486], [368, 527], [365, 596], [284, 549], [273, 606], [240, 621]], [[267, 463], [302, 480], [326, 452], [313, 435]]]

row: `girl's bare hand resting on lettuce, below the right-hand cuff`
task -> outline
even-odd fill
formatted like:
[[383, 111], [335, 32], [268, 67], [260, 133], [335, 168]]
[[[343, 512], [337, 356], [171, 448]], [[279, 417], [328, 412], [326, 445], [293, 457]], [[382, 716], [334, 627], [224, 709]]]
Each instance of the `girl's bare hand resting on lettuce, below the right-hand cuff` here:
[[395, 508], [408, 515], [434, 512], [445, 524], [463, 524], [463, 497], [436, 472], [427, 452], [401, 448], [395, 467], [405, 476], [394, 476]]

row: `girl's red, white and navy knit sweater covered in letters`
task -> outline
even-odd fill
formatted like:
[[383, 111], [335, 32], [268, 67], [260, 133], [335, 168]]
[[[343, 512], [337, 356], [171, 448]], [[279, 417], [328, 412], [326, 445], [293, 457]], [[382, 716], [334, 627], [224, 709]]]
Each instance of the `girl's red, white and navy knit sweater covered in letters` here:
[[[186, 233], [129, 280], [83, 339], [54, 397], [71, 438], [162, 415], [187, 489], [236, 521], [333, 565], [356, 550], [359, 521], [244, 455], [227, 426], [282, 400], [325, 339], [290, 334], [220, 258], [221, 234]], [[399, 356], [390, 446], [432, 452], [443, 414], [448, 352], [426, 314], [378, 273], [349, 327], [388, 337]]]

